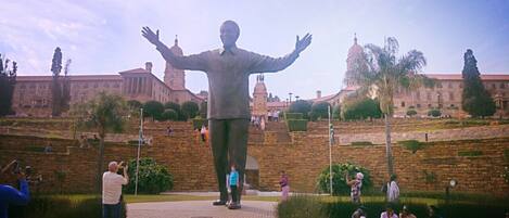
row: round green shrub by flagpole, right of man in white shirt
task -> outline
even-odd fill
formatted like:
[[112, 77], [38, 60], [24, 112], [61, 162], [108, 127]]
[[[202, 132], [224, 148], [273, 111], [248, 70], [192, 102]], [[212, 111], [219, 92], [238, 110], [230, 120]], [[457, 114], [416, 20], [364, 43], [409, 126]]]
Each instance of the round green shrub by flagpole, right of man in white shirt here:
[[[124, 187], [126, 192], [133, 193], [136, 185], [136, 159], [129, 162], [129, 183]], [[138, 193], [158, 194], [171, 190], [174, 177], [163, 165], [157, 165], [153, 158], [140, 158], [138, 174]]]

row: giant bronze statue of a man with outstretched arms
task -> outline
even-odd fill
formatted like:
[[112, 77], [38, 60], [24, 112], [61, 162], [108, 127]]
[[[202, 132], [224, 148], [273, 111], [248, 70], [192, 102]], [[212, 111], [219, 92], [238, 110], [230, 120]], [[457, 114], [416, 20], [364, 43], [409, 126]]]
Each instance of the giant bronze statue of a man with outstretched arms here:
[[[154, 33], [149, 27], [143, 27], [141, 31], [174, 67], [202, 70], [208, 77], [208, 126], [220, 192], [220, 198], [213, 205], [225, 205], [228, 201], [226, 175], [231, 165], [234, 165], [239, 171], [240, 190], [244, 183], [251, 118], [250, 75], [275, 73], [287, 68], [311, 43], [311, 35], [307, 34], [303, 39], [298, 39], [297, 36], [294, 51], [283, 57], [273, 59], [238, 48], [236, 42], [240, 28], [233, 21], [226, 21], [220, 27], [222, 48], [188, 56], [175, 55], [160, 41], [158, 30]], [[229, 208], [240, 208], [240, 196], [237, 198], [239, 202], [230, 203]]]

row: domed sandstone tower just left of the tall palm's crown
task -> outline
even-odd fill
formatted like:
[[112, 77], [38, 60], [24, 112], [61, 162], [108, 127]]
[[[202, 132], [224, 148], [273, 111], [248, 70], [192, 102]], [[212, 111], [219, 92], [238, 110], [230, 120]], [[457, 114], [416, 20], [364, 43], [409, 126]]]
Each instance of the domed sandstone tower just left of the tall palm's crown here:
[[357, 76], [357, 65], [364, 64], [364, 49], [357, 43], [357, 35], [354, 35], [354, 44], [348, 49], [348, 56], [346, 57], [346, 75], [343, 82], [346, 87], [358, 86], [355, 81]]

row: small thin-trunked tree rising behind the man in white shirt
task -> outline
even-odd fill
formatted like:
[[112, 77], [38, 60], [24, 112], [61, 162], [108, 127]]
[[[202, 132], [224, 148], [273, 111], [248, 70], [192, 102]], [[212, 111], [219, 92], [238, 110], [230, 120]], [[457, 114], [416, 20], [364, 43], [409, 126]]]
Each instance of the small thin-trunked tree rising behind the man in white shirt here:
[[96, 99], [75, 105], [72, 114], [78, 117], [78, 128], [92, 129], [99, 134], [97, 191], [100, 193], [104, 162], [104, 138], [106, 132], [122, 132], [124, 130], [124, 116], [127, 114], [126, 102], [119, 95], [100, 92]]

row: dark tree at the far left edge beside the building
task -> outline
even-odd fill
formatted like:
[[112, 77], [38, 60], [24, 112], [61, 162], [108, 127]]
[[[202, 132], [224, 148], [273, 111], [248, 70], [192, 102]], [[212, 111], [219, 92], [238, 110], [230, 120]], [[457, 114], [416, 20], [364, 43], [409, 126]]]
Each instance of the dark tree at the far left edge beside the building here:
[[12, 111], [12, 97], [16, 84], [17, 63], [12, 62], [12, 69], [10, 69], [9, 62], [9, 59], [4, 60], [0, 54], [0, 116], [14, 113]]

